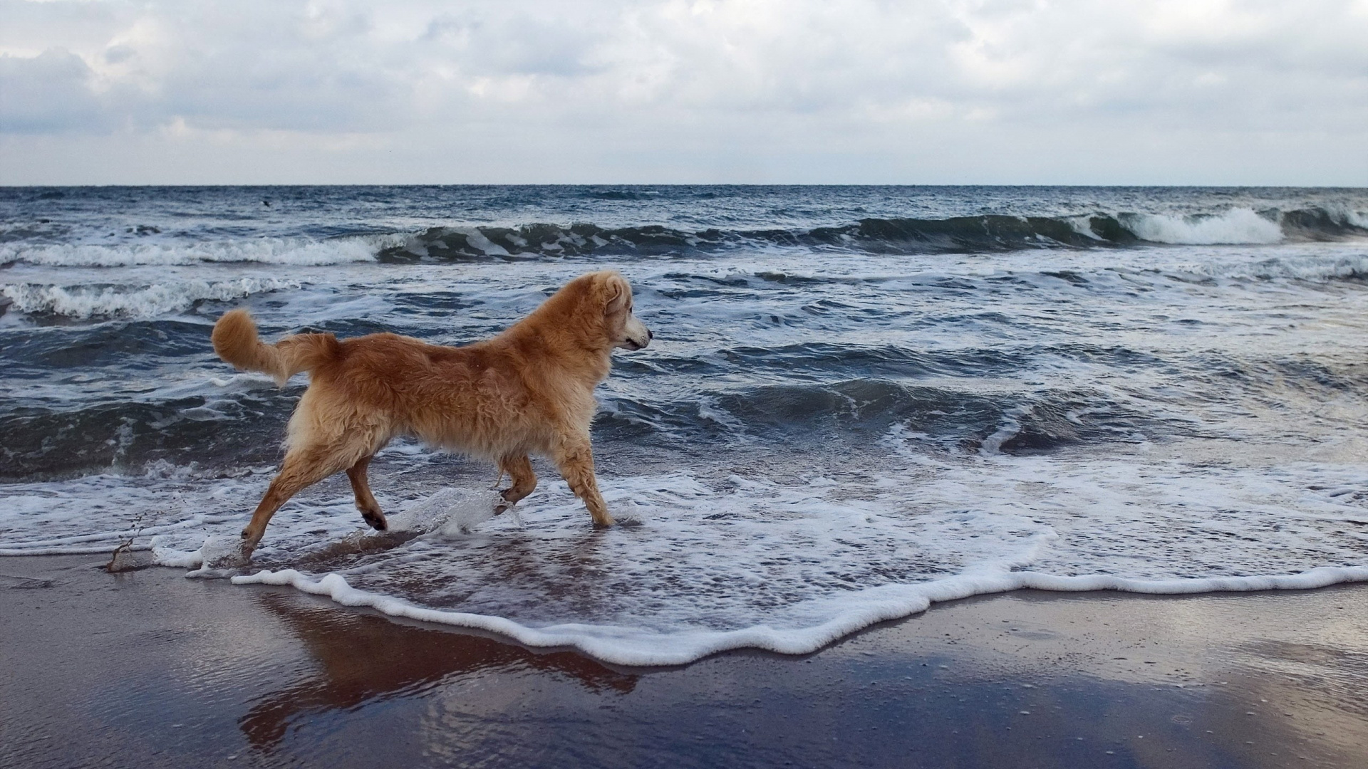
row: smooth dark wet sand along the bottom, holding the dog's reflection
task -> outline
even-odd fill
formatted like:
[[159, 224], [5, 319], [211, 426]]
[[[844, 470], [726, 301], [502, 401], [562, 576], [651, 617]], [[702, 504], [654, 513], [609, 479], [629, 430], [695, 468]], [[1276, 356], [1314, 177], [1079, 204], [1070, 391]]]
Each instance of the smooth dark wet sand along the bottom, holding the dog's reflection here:
[[0, 766], [1368, 766], [1368, 586], [943, 603], [676, 669], [0, 558]]

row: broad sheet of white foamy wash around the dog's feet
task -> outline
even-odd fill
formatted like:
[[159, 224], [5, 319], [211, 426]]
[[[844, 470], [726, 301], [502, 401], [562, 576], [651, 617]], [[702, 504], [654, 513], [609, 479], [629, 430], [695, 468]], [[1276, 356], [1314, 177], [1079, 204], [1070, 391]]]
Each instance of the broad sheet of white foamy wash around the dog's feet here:
[[[639, 521], [606, 531], [562, 482], [524, 501], [521, 521], [480, 520], [491, 491], [434, 490], [390, 516], [417, 538], [358, 560], [306, 557], [383, 535], [364, 530], [350, 495], [305, 495], [272, 521], [254, 558], [265, 571], [234, 582], [668, 665], [736, 647], [807, 653], [937, 601], [1022, 587], [1176, 594], [1368, 580], [1368, 504], [1356, 491], [1368, 471], [1357, 465], [1198, 467], [1144, 449], [937, 458], [903, 428], [885, 445], [886, 465], [840, 480], [602, 476], [614, 513]], [[207, 542], [235, 542], [264, 482], [26, 484], [8, 505], [18, 513], [0, 513], [0, 553], [96, 551], [133, 534], [157, 562], [201, 565]], [[171, 488], [182, 494], [174, 505]], [[161, 513], [135, 532], [130, 510], [152, 505]], [[466, 517], [479, 525], [453, 525]]]

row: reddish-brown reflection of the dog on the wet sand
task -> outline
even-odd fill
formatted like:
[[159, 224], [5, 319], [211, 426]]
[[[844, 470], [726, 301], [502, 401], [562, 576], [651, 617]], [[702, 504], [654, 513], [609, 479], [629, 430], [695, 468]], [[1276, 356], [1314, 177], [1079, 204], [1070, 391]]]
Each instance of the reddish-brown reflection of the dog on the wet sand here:
[[278, 592], [260, 595], [308, 650], [316, 666], [253, 701], [238, 720], [249, 742], [269, 750], [290, 725], [330, 710], [353, 710], [394, 696], [421, 695], [456, 676], [535, 672], [577, 681], [595, 694], [628, 694], [637, 676], [570, 651], [534, 653], [479, 635], [398, 624], [383, 617], [309, 606]]

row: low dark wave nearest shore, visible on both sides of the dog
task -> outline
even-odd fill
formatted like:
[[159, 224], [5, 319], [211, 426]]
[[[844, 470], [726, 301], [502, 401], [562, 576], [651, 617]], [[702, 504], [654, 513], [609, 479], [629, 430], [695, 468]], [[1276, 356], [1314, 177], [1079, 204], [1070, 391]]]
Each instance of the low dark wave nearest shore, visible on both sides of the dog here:
[[[21, 367], [18, 375], [27, 371]], [[263, 383], [215, 390], [133, 402], [112, 400], [126, 397], [122, 391], [104, 391], [98, 402], [64, 408], [41, 398], [18, 402], [0, 413], [0, 480], [141, 473], [157, 461], [196, 461], [207, 472], [231, 473], [278, 461], [279, 438], [302, 389]], [[637, 449], [700, 439], [720, 447], [754, 439], [782, 441], [795, 450], [833, 441], [858, 447], [902, 423], [951, 452], [1033, 454], [1190, 430], [1100, 393], [996, 393], [971, 383], [959, 389], [886, 379], [705, 389], [680, 400], [620, 394], [602, 405], [596, 439]]]

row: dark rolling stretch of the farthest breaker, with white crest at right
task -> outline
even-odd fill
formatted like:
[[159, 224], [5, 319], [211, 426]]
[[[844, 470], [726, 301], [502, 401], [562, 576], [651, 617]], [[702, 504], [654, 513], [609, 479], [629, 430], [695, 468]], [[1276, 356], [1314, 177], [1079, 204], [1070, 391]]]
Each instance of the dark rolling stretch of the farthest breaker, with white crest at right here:
[[956, 216], [949, 219], [860, 219], [806, 230], [677, 230], [665, 226], [430, 227], [382, 248], [380, 261], [472, 261], [587, 255], [669, 256], [739, 246], [799, 246], [871, 253], [973, 253], [1041, 248], [1145, 244], [1264, 245], [1289, 239], [1368, 237], [1368, 216], [1350, 209], [1312, 208], [1219, 213], [1094, 213], [1081, 216]]

